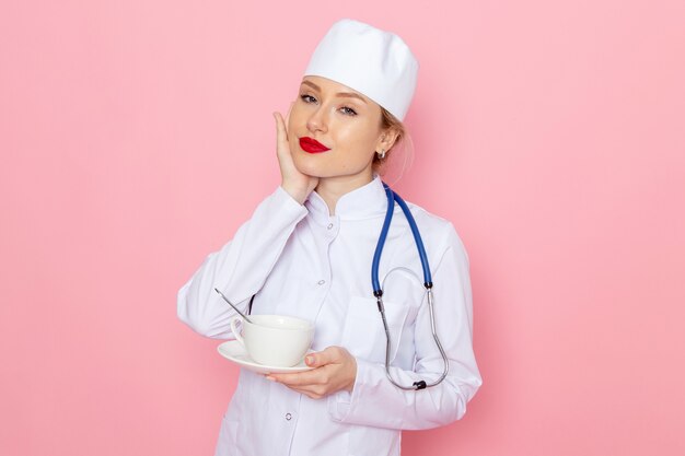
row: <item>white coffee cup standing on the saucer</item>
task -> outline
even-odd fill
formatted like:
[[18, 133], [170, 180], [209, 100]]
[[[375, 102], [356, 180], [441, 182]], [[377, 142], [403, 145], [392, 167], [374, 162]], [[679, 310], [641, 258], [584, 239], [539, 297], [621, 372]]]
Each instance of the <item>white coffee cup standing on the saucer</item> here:
[[[274, 367], [292, 367], [300, 363], [312, 346], [314, 325], [286, 315], [251, 315], [231, 320], [231, 331], [245, 347], [253, 361]], [[239, 331], [237, 325], [242, 331]]]

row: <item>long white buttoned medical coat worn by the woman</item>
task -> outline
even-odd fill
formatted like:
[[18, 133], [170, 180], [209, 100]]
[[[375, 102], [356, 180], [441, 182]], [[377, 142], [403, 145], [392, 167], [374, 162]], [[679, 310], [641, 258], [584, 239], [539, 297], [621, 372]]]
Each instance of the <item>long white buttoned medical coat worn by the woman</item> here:
[[[371, 287], [371, 262], [386, 210], [379, 177], [342, 196], [335, 215], [312, 192], [304, 206], [278, 187], [233, 241], [207, 257], [179, 290], [178, 317], [197, 332], [232, 338], [234, 316], [217, 287], [253, 314], [288, 314], [315, 321], [313, 349], [347, 348], [357, 359], [351, 395], [310, 399], [242, 370], [223, 418], [217, 456], [399, 455], [400, 431], [462, 418], [481, 384], [472, 350], [468, 258], [452, 224], [408, 203], [421, 231], [434, 282], [437, 330], [450, 359], [442, 384], [405, 391], [385, 377], [385, 334]], [[383, 250], [381, 279], [408, 267], [422, 278], [408, 223], [396, 206]], [[405, 272], [385, 285], [392, 331], [392, 373], [410, 385], [443, 370], [430, 330], [423, 289]]]

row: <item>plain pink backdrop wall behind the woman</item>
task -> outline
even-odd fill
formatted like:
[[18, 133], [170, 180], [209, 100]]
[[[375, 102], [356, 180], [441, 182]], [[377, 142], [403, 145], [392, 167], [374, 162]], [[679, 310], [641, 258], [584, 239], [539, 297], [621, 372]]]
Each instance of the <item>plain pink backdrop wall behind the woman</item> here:
[[485, 384], [404, 454], [685, 454], [681, 0], [3, 1], [0, 454], [212, 454], [237, 370], [176, 291], [344, 16], [418, 56], [396, 188], [472, 260]]

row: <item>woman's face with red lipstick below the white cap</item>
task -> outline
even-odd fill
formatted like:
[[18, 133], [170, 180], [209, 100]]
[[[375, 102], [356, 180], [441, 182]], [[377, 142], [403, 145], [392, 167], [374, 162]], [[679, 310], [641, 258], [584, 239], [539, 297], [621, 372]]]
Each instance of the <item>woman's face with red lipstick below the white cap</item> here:
[[390, 149], [381, 116], [381, 106], [361, 93], [326, 78], [304, 77], [288, 121], [297, 168], [320, 178], [371, 182], [373, 154]]

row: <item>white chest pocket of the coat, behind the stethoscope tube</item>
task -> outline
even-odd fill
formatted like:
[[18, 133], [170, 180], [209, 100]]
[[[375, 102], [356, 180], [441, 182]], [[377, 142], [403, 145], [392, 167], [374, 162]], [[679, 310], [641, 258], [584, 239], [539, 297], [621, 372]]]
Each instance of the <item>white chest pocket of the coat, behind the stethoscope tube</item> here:
[[[383, 304], [391, 334], [390, 361], [392, 363], [397, 354], [409, 306], [393, 302]], [[385, 329], [375, 297], [353, 296], [350, 300], [342, 330], [342, 347], [362, 360], [385, 363]]]

